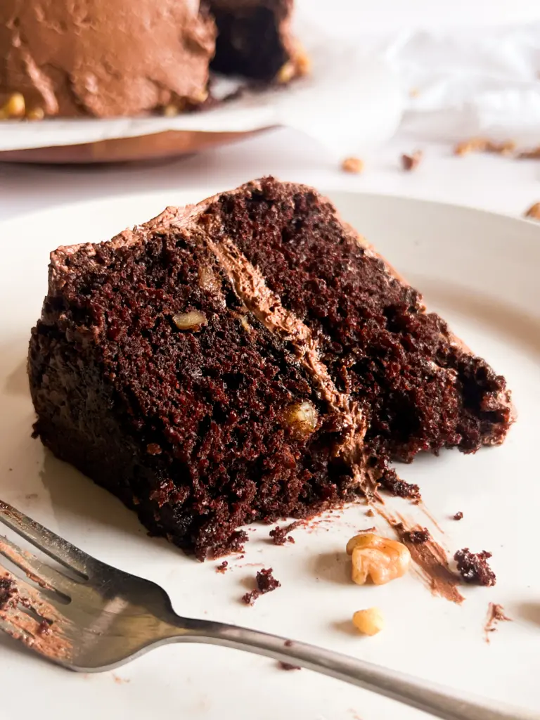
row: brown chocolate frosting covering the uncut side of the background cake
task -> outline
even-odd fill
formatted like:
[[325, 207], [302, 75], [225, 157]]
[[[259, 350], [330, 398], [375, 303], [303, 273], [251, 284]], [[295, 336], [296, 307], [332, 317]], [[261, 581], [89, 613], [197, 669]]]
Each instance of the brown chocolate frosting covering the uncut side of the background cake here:
[[198, 0], [2, 0], [0, 93], [49, 116], [202, 102], [215, 32]]

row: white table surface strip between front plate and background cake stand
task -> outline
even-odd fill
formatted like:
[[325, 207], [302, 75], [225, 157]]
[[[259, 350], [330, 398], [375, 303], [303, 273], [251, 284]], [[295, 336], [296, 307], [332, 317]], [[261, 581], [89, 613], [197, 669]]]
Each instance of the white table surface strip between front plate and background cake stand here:
[[[400, 155], [415, 148], [424, 150], [423, 161], [414, 172], [406, 173], [400, 168]], [[487, 155], [457, 158], [451, 145], [397, 136], [373, 150], [365, 163], [363, 174], [345, 174], [315, 141], [293, 130], [273, 130], [197, 156], [141, 165], [70, 168], [0, 164], [0, 219], [24, 220], [27, 212], [66, 202], [158, 190], [163, 190], [165, 207], [174, 204], [177, 190], [201, 189], [202, 199], [206, 187], [229, 189], [266, 174], [319, 189], [435, 199], [516, 216], [540, 201], [540, 161]], [[131, 222], [126, 217], [125, 224]]]

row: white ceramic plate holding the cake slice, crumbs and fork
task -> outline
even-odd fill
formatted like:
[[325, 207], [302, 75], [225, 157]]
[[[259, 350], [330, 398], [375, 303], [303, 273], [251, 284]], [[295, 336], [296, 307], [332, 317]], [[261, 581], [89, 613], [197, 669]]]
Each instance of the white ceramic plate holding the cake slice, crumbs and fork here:
[[[501, 701], [540, 707], [538, 565], [540, 482], [540, 228], [531, 222], [458, 207], [356, 194], [333, 194], [346, 219], [422, 289], [456, 333], [505, 374], [519, 418], [500, 448], [464, 456], [422, 457], [400, 467], [418, 482], [442, 528], [404, 500], [395, 506], [430, 527], [451, 552], [493, 553], [495, 588], [464, 588], [456, 606], [434, 598], [414, 573], [383, 587], [348, 580], [346, 540], [372, 525], [361, 505], [330, 522], [299, 529], [296, 544], [250, 533], [246, 557], [199, 564], [150, 539], [135, 516], [30, 438], [32, 405], [25, 361], [40, 314], [48, 253], [58, 245], [102, 240], [166, 204], [204, 197], [147, 195], [79, 204], [0, 223], [0, 497], [100, 559], [166, 588], [179, 613], [275, 631], [331, 647]], [[451, 519], [462, 510], [461, 522]], [[379, 529], [387, 532], [383, 523]], [[273, 567], [282, 588], [253, 608], [240, 603], [256, 570]], [[488, 603], [511, 623], [485, 642]], [[387, 628], [358, 636], [351, 616], [379, 606]], [[96, 717], [222, 720], [420, 720], [419, 713], [306, 670], [229, 649], [175, 645], [116, 672], [76, 675], [0, 636], [1, 716], [21, 720]], [[32, 701], [29, 693], [32, 693]]]

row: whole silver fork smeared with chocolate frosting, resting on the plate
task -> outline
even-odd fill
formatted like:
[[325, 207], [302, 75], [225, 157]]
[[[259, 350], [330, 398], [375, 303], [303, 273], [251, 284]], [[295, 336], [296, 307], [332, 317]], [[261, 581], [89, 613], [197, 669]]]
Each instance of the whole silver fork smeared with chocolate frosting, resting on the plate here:
[[99, 562], [1, 501], [0, 521], [71, 571], [55, 570], [0, 536], [0, 553], [32, 580], [0, 566], [0, 629], [71, 670], [110, 670], [153, 647], [204, 642], [294, 662], [443, 720], [540, 719], [302, 642], [180, 617], [155, 583]]

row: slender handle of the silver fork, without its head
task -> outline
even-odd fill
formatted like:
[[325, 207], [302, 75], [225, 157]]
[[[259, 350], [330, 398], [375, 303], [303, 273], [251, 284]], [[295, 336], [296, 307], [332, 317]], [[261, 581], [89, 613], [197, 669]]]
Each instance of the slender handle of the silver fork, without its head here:
[[444, 686], [388, 670], [364, 660], [284, 637], [223, 623], [178, 618], [179, 634], [166, 642], [203, 642], [245, 650], [282, 662], [295, 662], [441, 720], [540, 720], [540, 715], [518, 708], [497, 706], [482, 698], [463, 696]]

